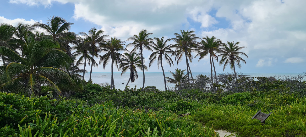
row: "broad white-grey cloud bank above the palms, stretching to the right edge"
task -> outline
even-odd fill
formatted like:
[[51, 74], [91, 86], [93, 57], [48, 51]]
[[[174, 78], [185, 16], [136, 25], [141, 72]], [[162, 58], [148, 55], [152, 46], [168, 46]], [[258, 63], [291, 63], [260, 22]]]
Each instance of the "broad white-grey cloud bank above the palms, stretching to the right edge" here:
[[[271, 67], [279, 63], [302, 63], [306, 57], [305, 0], [10, 0], [11, 3], [52, 6], [53, 2], [75, 5], [74, 18], [95, 23], [110, 36], [126, 39], [148, 29], [154, 36], [170, 36], [180, 29], [190, 29], [191, 22], [199, 37], [216, 36], [222, 41], [240, 41], [247, 46], [242, 52], [255, 67]], [[215, 13], [210, 13], [212, 10]], [[222, 23], [226, 27], [216, 28]], [[194, 26], [191, 26], [194, 27]], [[295, 58], [299, 57], [299, 58]], [[270, 58], [273, 58], [270, 60]], [[197, 60], [197, 59], [196, 59]], [[205, 60], [204, 60], [205, 61]], [[243, 68], [243, 67], [242, 67]], [[220, 72], [222, 68], [220, 67]]]

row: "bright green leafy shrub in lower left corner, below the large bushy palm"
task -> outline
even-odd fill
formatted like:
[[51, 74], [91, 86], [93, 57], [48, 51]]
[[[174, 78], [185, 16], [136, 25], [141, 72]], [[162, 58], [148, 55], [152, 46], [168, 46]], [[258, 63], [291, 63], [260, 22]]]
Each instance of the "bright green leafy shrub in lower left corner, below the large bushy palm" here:
[[59, 120], [65, 119], [73, 113], [75, 101], [50, 99], [47, 96], [29, 98], [24, 95], [0, 92], [0, 127], [10, 130], [18, 129], [18, 124], [25, 124], [35, 120], [35, 115], [45, 112], [56, 114]]

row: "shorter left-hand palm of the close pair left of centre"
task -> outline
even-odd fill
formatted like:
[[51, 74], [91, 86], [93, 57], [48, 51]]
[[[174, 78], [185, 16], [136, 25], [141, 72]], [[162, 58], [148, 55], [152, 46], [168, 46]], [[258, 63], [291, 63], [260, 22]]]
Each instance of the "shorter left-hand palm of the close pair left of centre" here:
[[[76, 61], [76, 64], [82, 63], [84, 60], [84, 69], [83, 69], [83, 80], [85, 77], [85, 71], [86, 71], [86, 62], [88, 61], [88, 65], [90, 64], [90, 61], [92, 58], [90, 57], [90, 43], [87, 42], [86, 39], [77, 37], [75, 46], [72, 47], [73, 50], [76, 50], [73, 55], [78, 57], [80, 56], [79, 60]], [[95, 63], [95, 61], [94, 61]]]

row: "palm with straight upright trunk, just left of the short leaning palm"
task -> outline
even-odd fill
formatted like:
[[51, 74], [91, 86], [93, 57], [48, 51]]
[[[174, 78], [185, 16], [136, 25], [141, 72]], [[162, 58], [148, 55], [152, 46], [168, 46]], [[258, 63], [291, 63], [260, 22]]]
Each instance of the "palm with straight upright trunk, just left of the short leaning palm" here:
[[116, 67], [118, 68], [118, 64], [121, 61], [120, 58], [123, 57], [123, 55], [121, 53], [121, 51], [128, 51], [126, 49], [124, 49], [126, 46], [125, 41], [117, 39], [116, 37], [112, 38], [110, 37], [110, 39], [108, 41], [106, 41], [106, 43], [101, 44], [100, 48], [102, 51], [105, 51], [106, 53], [101, 57], [100, 59], [100, 65], [103, 62], [103, 68], [105, 69], [106, 65], [108, 64], [109, 61], [111, 61], [112, 66], [112, 77], [111, 77], [111, 84], [110, 84], [110, 89], [114, 89], [115, 85], [114, 85], [114, 62]]

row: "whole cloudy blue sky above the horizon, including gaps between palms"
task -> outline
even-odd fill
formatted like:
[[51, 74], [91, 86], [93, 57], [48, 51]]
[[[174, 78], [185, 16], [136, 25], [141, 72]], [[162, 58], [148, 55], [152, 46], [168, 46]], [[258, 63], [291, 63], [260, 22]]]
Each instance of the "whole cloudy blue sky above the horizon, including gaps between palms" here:
[[[180, 30], [194, 30], [200, 38], [215, 36], [223, 43], [240, 41], [239, 46], [246, 46], [241, 50], [248, 55], [241, 56], [246, 65], [236, 68], [236, 72], [303, 73], [305, 6], [305, 0], [1, 0], [0, 23], [47, 23], [52, 16], [60, 16], [74, 23], [70, 31], [87, 32], [96, 27], [121, 40], [141, 29], [153, 33], [151, 38], [166, 39]], [[144, 57], [148, 59], [150, 53], [144, 51]], [[190, 63], [192, 72], [210, 72], [209, 57], [198, 59]], [[186, 62], [174, 61], [174, 66], [165, 63], [163, 67], [166, 72], [186, 69]], [[223, 71], [216, 60], [215, 67], [217, 73], [232, 72], [229, 66]], [[90, 66], [86, 68], [90, 70]], [[110, 64], [105, 70], [99, 66], [93, 71], [110, 72]], [[155, 62], [148, 72], [162, 70]]]

